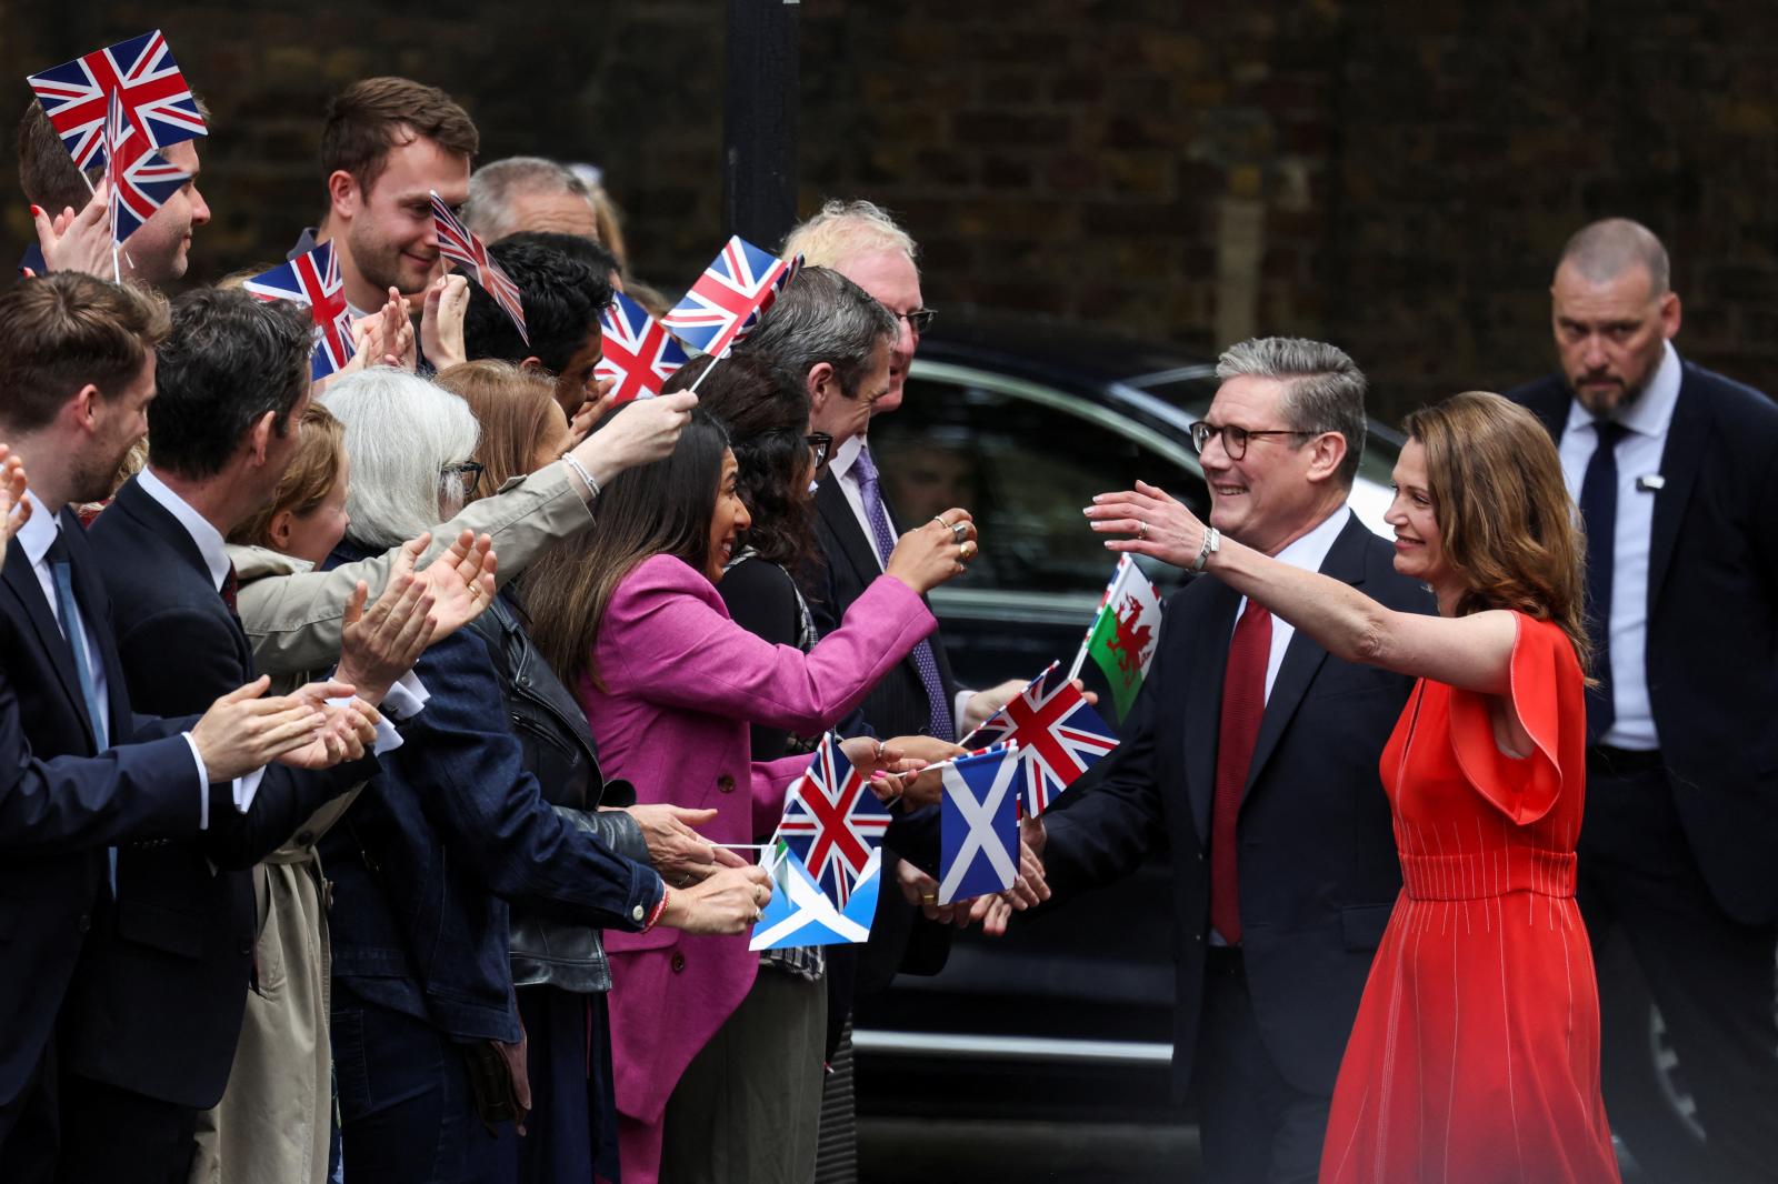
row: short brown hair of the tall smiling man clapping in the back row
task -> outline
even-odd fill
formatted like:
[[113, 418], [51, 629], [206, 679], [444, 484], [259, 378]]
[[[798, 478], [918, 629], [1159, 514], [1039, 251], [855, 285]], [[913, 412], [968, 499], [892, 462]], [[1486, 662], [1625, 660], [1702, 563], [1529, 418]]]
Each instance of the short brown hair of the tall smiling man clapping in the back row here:
[[453, 156], [473, 158], [482, 146], [469, 112], [412, 78], [364, 78], [327, 103], [322, 128], [322, 176], [352, 174], [364, 192], [389, 164], [389, 149], [425, 137]]

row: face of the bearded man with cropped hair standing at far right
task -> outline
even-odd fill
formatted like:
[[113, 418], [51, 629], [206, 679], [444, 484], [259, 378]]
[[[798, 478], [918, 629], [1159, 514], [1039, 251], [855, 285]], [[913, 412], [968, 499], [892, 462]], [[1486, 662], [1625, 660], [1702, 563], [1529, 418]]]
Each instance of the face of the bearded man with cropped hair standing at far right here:
[[1550, 320], [1575, 398], [1606, 416], [1648, 388], [1668, 338], [1678, 332], [1678, 295], [1655, 293], [1646, 267], [1588, 279], [1574, 263], [1563, 263], [1550, 286]]

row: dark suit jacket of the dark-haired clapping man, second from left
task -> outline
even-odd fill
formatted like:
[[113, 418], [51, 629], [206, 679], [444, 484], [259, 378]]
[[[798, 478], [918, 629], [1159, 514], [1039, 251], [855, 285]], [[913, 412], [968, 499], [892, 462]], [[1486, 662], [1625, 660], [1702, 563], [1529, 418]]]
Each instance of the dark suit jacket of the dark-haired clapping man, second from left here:
[[[132, 702], [196, 711], [256, 677], [197, 544], [135, 480], [91, 537]], [[196, 841], [121, 850], [116, 907], [94, 926], [69, 992], [66, 1068], [164, 1102], [215, 1106], [252, 976], [252, 866], [375, 768], [372, 759], [324, 773], [274, 764], [245, 814], [228, 802]]]

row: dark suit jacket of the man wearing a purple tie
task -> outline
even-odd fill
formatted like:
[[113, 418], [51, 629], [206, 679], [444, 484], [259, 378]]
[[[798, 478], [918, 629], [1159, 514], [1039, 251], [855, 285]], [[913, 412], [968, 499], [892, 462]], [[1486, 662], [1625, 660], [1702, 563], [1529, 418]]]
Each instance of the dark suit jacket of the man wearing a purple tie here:
[[[809, 601], [809, 613], [814, 626], [827, 636], [839, 628], [839, 619], [852, 608], [852, 601], [871, 587], [871, 581], [884, 574], [877, 560], [877, 549], [864, 535], [846, 494], [839, 489], [839, 478], [829, 475], [814, 491], [816, 539], [821, 546], [821, 571], [804, 581], [804, 596]], [[957, 681], [951, 677], [951, 663], [944, 656], [944, 642], [932, 635], [932, 654], [939, 665], [939, 679], [944, 683], [946, 704], [957, 697]], [[878, 736], [926, 736], [932, 734], [932, 700], [926, 699], [926, 684], [919, 679], [919, 667], [909, 654], [884, 676], [864, 697], [864, 718]], [[928, 814], [925, 816], [923, 814]], [[935, 830], [933, 818], [937, 807], [928, 807], [910, 816], [912, 827], [928, 834]], [[898, 971], [909, 974], [937, 974], [944, 969], [951, 955], [951, 928], [926, 921], [917, 908], [901, 900], [894, 887], [893, 852], [884, 855], [884, 891], [877, 896], [877, 919], [871, 923], [871, 940], [859, 958], [859, 988], [884, 990]]]

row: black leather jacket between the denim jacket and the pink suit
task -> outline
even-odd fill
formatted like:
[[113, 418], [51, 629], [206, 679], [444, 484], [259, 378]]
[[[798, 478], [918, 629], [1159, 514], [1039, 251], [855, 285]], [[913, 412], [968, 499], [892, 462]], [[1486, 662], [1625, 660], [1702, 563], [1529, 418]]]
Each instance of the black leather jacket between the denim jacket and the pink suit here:
[[[606, 782], [592, 729], [574, 695], [555, 676], [525, 631], [521, 610], [501, 592], [471, 626], [487, 644], [507, 697], [512, 732], [525, 750], [525, 768], [537, 777], [544, 798], [558, 814], [605, 841], [613, 852], [638, 864], [649, 862], [642, 828], [629, 814], [601, 805], [631, 805], [635, 789], [626, 780]], [[573, 992], [612, 988], [599, 930], [565, 924], [519, 908], [512, 910], [512, 985], [549, 985]]]

